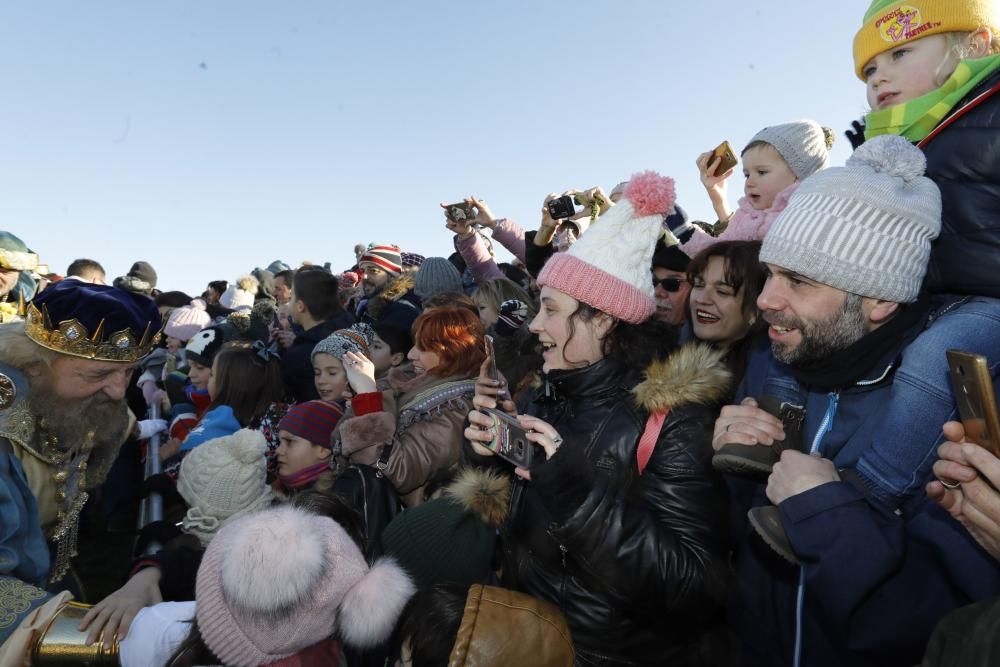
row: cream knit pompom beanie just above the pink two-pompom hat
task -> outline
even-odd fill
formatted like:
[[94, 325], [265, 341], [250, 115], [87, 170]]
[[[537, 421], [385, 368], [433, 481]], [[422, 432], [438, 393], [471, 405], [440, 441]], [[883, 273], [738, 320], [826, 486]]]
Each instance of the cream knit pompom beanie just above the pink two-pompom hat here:
[[271, 504], [267, 441], [260, 431], [241, 429], [195, 447], [181, 462], [177, 492], [187, 503], [184, 532], [208, 544], [223, 522]]

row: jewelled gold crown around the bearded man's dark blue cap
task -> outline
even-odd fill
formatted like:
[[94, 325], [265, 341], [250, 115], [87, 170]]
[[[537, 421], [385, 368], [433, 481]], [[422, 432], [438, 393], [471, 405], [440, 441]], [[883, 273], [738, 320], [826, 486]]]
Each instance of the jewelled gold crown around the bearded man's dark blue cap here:
[[48, 309], [42, 304], [39, 310], [35, 304], [28, 304], [24, 320], [24, 333], [42, 347], [61, 354], [97, 361], [133, 362], [144, 358], [160, 342], [160, 332], [152, 333], [146, 325], [142, 339], [136, 341], [128, 329], [116, 331], [102, 340], [104, 320], [97, 325], [94, 333], [87, 331], [80, 320], [73, 318], [53, 326]]

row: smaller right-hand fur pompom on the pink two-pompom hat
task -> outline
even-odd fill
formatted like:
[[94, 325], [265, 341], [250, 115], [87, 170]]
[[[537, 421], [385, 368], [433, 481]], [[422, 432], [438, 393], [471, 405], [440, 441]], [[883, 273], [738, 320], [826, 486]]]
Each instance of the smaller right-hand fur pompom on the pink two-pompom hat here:
[[410, 577], [391, 558], [380, 558], [340, 603], [338, 625], [344, 642], [357, 648], [384, 641], [416, 592]]

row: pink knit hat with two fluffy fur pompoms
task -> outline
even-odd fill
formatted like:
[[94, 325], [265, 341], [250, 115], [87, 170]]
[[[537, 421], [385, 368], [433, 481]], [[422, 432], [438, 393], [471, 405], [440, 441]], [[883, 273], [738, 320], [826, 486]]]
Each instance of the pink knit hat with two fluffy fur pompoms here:
[[359, 648], [392, 633], [413, 582], [369, 568], [336, 522], [294, 507], [227, 523], [198, 569], [198, 627], [227, 665], [275, 662], [337, 635]]

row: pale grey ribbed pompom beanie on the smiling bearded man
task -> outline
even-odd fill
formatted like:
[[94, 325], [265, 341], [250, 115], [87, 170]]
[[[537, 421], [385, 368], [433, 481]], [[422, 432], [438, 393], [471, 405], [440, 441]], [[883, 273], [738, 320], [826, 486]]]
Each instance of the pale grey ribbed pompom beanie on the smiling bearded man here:
[[846, 166], [803, 181], [764, 237], [760, 261], [845, 292], [915, 301], [941, 231], [941, 193], [926, 166], [900, 136], [869, 140]]

